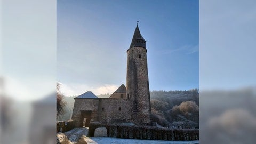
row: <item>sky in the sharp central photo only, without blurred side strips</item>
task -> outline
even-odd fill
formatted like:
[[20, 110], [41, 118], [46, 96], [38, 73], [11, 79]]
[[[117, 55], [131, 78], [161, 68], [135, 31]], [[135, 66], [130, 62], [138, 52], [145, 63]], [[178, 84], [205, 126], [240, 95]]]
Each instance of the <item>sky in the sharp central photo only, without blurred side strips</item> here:
[[66, 95], [126, 84], [126, 50], [138, 25], [150, 90], [199, 86], [198, 1], [57, 1], [57, 81]]

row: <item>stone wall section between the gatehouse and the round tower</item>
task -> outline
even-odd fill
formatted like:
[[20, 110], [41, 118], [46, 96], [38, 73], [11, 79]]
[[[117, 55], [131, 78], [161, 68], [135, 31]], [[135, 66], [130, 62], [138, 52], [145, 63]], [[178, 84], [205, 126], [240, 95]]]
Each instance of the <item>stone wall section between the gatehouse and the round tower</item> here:
[[102, 123], [130, 122], [129, 99], [99, 99], [98, 121]]

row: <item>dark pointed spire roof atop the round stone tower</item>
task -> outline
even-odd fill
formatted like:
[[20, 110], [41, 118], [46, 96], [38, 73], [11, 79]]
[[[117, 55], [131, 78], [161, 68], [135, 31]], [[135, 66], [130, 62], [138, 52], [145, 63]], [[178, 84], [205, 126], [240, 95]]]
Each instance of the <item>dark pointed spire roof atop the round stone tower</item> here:
[[130, 48], [132, 48], [132, 47], [143, 47], [143, 48], [146, 49], [146, 41], [140, 34], [138, 23], [137, 23], [137, 26], [135, 28], [133, 38], [132, 38], [132, 42], [131, 42], [131, 45], [130, 45]]

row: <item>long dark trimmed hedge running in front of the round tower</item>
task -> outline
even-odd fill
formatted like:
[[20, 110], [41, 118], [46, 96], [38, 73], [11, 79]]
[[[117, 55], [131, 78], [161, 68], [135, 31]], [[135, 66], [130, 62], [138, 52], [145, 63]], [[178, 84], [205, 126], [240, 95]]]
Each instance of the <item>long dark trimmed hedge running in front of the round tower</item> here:
[[166, 129], [149, 126], [123, 126], [114, 124], [90, 123], [89, 136], [94, 136], [98, 127], [106, 127], [107, 136], [124, 139], [149, 140], [199, 140], [198, 129]]

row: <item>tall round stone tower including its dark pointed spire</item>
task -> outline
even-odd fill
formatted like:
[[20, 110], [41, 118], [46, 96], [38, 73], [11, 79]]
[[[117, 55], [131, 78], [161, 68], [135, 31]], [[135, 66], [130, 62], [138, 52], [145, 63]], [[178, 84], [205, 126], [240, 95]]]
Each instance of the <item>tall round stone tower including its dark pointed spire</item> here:
[[138, 24], [127, 50], [126, 98], [131, 101], [131, 122], [151, 126], [146, 41]]

